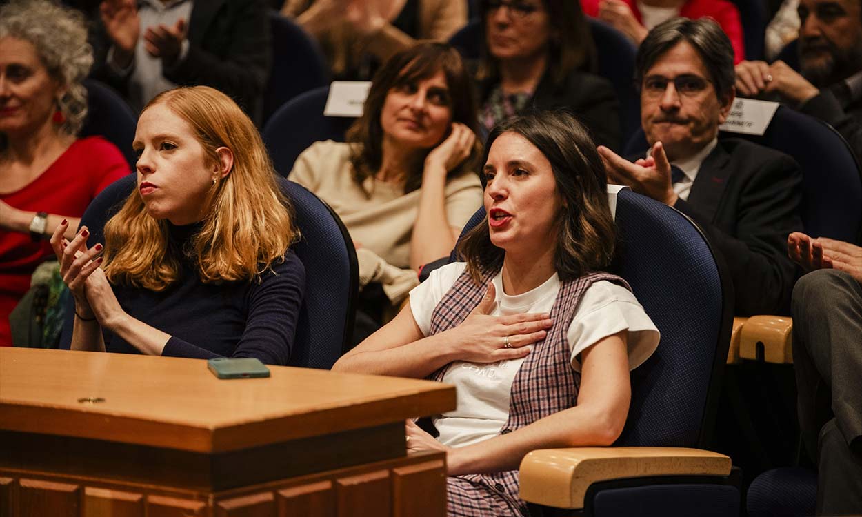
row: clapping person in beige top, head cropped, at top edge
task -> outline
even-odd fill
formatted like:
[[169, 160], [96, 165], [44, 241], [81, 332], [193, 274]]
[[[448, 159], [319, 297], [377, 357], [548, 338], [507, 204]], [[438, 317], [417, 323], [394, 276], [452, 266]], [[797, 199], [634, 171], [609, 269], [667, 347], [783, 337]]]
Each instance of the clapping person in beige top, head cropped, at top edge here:
[[376, 63], [446, 41], [467, 22], [465, 0], [284, 0], [281, 13], [321, 43], [334, 78], [367, 79]]

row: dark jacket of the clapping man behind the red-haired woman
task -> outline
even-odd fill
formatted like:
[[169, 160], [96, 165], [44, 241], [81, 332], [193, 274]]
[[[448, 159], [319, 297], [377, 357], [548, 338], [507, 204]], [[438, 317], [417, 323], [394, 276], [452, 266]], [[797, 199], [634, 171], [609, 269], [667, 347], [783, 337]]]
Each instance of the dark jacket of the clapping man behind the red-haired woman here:
[[[189, 53], [163, 71], [165, 78], [180, 86], [204, 84], [222, 90], [259, 121], [272, 65], [266, 9], [264, 0], [196, 0], [189, 19]], [[128, 78], [107, 64], [110, 40], [100, 22], [91, 40], [96, 52], [91, 75], [128, 95]]]

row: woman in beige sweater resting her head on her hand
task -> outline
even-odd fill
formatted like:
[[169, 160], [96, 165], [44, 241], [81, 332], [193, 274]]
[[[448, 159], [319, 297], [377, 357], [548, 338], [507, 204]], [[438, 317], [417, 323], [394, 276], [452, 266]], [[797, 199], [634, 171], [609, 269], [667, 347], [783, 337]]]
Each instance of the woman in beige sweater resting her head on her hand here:
[[423, 43], [380, 68], [348, 143], [317, 142], [290, 172], [344, 221], [360, 286], [381, 283], [393, 306], [415, 286], [420, 266], [451, 252], [481, 206], [476, 120], [459, 54]]

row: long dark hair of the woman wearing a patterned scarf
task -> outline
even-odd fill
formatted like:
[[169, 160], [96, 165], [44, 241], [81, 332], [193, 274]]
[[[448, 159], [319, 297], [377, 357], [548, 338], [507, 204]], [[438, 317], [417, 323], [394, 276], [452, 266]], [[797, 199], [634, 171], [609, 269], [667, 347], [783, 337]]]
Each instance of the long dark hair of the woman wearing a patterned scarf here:
[[[590, 23], [584, 16], [579, 0], [541, 0], [551, 23], [548, 34], [547, 66], [551, 77], [562, 84], [572, 70], [596, 72], [598, 59], [596, 44], [592, 39]], [[479, 4], [482, 47], [479, 57], [477, 78], [480, 81], [494, 81], [499, 76], [497, 59], [488, 52], [487, 23], [488, 9], [484, 2]]]

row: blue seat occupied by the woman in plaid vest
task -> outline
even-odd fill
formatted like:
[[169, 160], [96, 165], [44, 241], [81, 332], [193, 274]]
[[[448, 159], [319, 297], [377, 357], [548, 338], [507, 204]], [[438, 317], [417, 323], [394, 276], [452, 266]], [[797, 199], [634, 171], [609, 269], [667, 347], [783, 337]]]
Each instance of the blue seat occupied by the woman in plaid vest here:
[[[462, 237], [482, 221], [479, 209]], [[632, 373], [628, 421], [615, 445], [706, 448], [734, 313], [728, 274], [694, 223], [660, 202], [622, 190], [615, 221], [620, 242], [611, 271], [631, 284], [661, 332], [653, 357]], [[735, 516], [740, 489], [735, 471], [639, 477], [593, 485], [584, 504], [584, 514], [597, 516]]]

